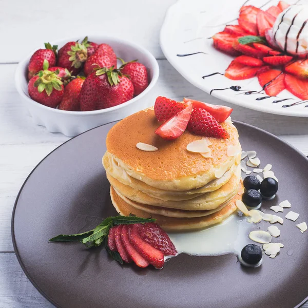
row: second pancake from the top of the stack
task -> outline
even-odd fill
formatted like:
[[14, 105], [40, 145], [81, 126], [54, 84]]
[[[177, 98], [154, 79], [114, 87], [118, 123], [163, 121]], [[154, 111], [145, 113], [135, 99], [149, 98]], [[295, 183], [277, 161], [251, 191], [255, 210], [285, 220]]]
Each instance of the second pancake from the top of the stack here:
[[236, 164], [234, 164], [229, 170], [227, 170], [221, 178], [215, 179], [208, 184], [191, 190], [183, 190], [183, 191], [174, 191], [174, 190], [165, 190], [159, 189], [156, 187], [152, 187], [140, 180], [134, 179], [127, 174], [127, 172], [122, 169], [117, 163], [113, 160], [109, 160], [107, 156], [103, 157], [103, 164], [105, 166], [106, 171], [113, 178], [118, 180], [124, 185], [129, 185], [134, 189], [141, 190], [148, 194], [151, 197], [155, 197], [161, 200], [188, 200], [192, 198], [196, 198], [199, 195], [205, 194], [205, 192], [210, 192], [217, 190], [224, 184], [226, 184], [231, 176], [234, 174], [236, 169]]

